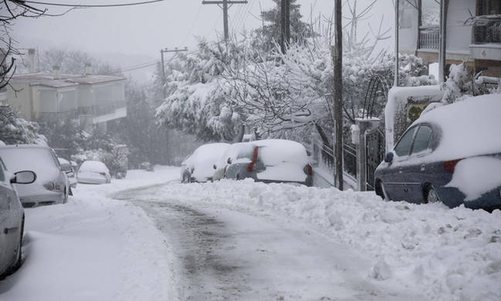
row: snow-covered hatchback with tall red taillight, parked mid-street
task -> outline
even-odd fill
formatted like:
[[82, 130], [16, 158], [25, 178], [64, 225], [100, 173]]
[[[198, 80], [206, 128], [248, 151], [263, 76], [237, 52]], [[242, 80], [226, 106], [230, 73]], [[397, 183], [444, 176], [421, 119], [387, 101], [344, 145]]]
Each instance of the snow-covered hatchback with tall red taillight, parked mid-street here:
[[220, 160], [224, 166], [224, 178], [253, 178], [266, 183], [313, 186], [313, 168], [301, 143], [266, 139], [237, 143], [235, 146]]

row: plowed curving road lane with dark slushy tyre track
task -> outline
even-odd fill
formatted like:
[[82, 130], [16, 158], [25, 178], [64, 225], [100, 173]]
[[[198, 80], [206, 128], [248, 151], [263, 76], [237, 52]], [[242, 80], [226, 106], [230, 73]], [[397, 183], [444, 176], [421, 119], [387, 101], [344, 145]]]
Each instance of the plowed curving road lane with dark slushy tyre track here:
[[182, 199], [151, 201], [159, 189], [114, 197], [142, 207], [165, 233], [182, 300], [425, 300], [371, 281], [370, 261], [296, 218]]

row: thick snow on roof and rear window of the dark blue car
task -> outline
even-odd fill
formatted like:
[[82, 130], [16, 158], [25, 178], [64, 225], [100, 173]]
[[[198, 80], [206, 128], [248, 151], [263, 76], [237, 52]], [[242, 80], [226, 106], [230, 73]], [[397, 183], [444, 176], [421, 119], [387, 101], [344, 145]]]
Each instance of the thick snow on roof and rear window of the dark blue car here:
[[501, 153], [501, 94], [471, 97], [438, 107], [413, 124], [430, 123], [442, 130], [433, 159], [460, 159]]

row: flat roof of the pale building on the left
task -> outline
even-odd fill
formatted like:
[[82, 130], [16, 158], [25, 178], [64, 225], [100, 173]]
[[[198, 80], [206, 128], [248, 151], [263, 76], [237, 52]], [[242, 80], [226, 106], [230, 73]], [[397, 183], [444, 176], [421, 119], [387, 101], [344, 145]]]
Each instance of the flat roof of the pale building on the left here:
[[75, 87], [78, 85], [96, 85], [115, 81], [123, 81], [124, 77], [111, 75], [81, 75], [61, 74], [58, 78], [54, 74], [31, 73], [13, 76], [13, 82], [27, 83], [30, 86], [45, 86], [52, 88]]

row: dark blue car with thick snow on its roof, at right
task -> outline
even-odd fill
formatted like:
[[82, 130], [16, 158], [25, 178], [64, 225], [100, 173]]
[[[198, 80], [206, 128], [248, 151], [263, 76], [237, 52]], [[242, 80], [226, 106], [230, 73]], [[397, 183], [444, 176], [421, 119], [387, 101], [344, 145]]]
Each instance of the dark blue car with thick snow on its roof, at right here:
[[501, 208], [501, 95], [472, 97], [425, 112], [386, 154], [374, 176], [376, 193], [383, 198]]

